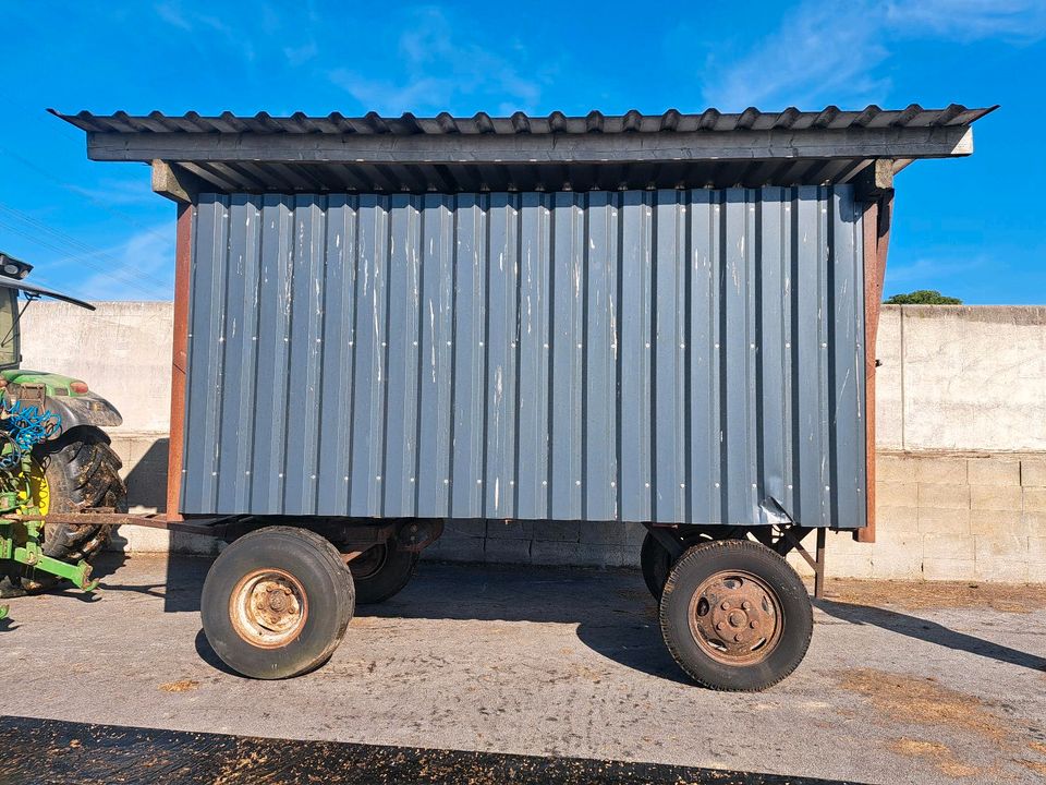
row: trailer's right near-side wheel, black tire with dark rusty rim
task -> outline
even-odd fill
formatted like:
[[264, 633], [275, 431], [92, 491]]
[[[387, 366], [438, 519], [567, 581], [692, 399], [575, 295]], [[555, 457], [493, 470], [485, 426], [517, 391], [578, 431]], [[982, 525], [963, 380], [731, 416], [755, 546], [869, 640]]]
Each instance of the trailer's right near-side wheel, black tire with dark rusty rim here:
[[813, 608], [778, 554], [747, 540], [721, 540], [690, 548], [672, 567], [660, 625], [668, 650], [695, 681], [757, 691], [802, 662]]

